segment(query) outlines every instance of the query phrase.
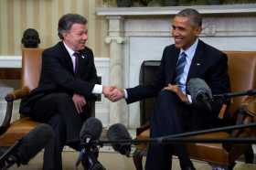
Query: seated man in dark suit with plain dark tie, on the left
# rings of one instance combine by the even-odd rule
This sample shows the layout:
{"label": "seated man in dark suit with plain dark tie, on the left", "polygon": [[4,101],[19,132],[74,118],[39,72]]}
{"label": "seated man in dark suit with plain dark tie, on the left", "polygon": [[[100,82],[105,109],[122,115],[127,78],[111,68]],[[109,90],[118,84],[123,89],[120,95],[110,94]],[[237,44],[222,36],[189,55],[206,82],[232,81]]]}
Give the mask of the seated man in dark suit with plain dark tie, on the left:
{"label": "seated man in dark suit with plain dark tie, on the left", "polygon": [[44,154],[44,170],[61,170],[65,144],[79,150],[82,123],[90,116],[87,103],[93,94],[107,96],[110,87],[98,83],[93,53],[85,47],[87,19],[67,14],[59,19],[61,41],[42,54],[42,70],[37,89],[21,102],[20,112],[38,122],[48,122],[55,137]]}

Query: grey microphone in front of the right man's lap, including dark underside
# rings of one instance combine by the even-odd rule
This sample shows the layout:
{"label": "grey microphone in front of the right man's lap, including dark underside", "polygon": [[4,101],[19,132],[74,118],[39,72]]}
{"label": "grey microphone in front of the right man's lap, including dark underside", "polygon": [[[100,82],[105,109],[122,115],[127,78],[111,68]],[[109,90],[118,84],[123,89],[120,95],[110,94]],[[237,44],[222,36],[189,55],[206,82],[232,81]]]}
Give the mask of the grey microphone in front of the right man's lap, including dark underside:
{"label": "grey microphone in front of the right man's lap, including dark underside", "polygon": [[193,78],[187,83],[187,90],[191,95],[192,102],[199,106],[206,106],[208,111],[212,111],[210,101],[212,100],[212,92],[205,80]]}

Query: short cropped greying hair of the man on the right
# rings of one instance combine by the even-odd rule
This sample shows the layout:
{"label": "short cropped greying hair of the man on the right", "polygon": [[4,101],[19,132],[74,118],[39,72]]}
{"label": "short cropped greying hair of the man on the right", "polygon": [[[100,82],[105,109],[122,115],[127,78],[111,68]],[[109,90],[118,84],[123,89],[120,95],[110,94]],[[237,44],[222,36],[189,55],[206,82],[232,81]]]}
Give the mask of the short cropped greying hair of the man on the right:
{"label": "short cropped greying hair of the man on the right", "polygon": [[176,14],[176,16],[186,16],[190,18],[192,25],[197,27],[202,27],[202,16],[201,14],[193,8],[186,8]]}

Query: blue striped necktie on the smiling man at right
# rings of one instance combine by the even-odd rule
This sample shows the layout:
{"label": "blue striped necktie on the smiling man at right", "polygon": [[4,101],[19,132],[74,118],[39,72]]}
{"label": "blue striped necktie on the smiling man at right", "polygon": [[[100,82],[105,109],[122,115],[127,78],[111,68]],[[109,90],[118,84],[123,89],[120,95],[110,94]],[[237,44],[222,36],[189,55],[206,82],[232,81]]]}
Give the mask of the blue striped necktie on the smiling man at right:
{"label": "blue striped necktie on the smiling man at right", "polygon": [[187,58],[187,54],[185,52],[182,52],[180,54],[180,58],[177,60],[176,79],[175,79],[175,82],[177,85],[183,85],[183,84],[181,84],[180,80],[182,78],[182,73],[184,72],[184,68],[186,65],[186,58]]}

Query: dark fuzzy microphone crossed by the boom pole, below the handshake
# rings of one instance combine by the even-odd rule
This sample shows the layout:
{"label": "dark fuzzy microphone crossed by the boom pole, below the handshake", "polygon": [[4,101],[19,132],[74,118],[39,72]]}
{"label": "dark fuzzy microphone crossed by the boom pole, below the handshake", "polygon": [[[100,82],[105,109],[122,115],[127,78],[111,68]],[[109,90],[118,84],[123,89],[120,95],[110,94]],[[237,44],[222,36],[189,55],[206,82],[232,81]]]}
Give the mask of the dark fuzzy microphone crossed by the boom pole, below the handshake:
{"label": "dark fuzzy microphone crossed by the boom pole, below the handshake", "polygon": [[[130,133],[128,133],[127,129],[122,123],[112,124],[107,132],[107,137],[110,141],[132,141]],[[112,143],[112,148],[116,152],[129,157],[131,152],[131,143]]]}

